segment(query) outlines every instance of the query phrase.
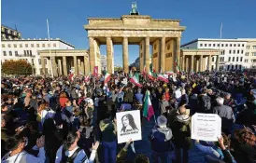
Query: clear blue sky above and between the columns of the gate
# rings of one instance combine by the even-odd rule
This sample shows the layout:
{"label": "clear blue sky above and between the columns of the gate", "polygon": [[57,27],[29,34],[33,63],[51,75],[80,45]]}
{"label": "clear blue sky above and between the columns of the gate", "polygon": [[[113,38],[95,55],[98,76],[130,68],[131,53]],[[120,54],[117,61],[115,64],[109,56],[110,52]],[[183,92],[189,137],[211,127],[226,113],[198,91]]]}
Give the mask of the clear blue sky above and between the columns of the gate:
{"label": "clear blue sky above and between the columns of the gate", "polygon": [[[3,25],[21,31],[23,38],[61,38],[75,48],[89,48],[83,25],[87,18],[121,18],[129,15],[133,0],[2,0]],[[181,44],[196,38],[256,38],[256,0],[137,0],[141,15],[181,20],[186,26]],[[115,65],[122,65],[121,46],[114,46]],[[101,53],[106,54],[106,46]],[[129,62],[138,46],[129,46]]]}

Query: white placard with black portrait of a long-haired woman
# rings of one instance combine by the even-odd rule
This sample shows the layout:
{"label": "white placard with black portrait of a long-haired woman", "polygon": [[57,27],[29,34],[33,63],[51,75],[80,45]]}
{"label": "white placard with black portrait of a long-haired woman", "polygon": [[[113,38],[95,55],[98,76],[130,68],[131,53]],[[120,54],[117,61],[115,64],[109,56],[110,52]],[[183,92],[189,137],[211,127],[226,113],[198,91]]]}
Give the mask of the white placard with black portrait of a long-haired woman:
{"label": "white placard with black portrait of a long-haired woman", "polygon": [[118,143],[141,140],[140,111],[117,113]]}

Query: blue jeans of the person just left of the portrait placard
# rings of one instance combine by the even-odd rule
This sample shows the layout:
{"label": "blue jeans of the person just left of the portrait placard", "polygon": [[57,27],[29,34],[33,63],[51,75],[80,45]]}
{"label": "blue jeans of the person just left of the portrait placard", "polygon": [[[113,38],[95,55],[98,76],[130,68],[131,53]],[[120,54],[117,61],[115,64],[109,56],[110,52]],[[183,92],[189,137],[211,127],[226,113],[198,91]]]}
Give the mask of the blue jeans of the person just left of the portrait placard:
{"label": "blue jeans of the person just left of the portrait placard", "polygon": [[117,156],[117,142],[102,142],[103,146],[103,162],[104,163],[115,163]]}

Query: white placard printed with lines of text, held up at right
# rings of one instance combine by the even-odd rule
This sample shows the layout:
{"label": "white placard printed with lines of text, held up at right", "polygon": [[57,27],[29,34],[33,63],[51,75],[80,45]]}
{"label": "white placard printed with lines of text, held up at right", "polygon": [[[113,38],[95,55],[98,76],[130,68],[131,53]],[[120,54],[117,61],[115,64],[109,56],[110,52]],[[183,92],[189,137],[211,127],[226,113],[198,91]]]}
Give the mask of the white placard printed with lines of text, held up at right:
{"label": "white placard printed with lines of text, held up at right", "polygon": [[215,114],[192,115],[192,139],[217,142],[221,135],[221,118]]}

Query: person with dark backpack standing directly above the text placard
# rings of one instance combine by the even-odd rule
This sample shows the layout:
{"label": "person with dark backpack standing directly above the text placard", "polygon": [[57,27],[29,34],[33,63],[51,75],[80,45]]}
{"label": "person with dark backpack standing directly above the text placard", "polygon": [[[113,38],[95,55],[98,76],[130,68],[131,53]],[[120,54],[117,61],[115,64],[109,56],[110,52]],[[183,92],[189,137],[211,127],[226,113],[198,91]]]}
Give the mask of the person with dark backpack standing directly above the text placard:
{"label": "person with dark backpack standing directly above the text placard", "polygon": [[198,96],[197,113],[212,113],[211,98],[207,95],[207,89],[203,88],[202,93]]}

